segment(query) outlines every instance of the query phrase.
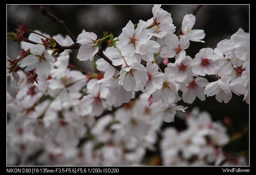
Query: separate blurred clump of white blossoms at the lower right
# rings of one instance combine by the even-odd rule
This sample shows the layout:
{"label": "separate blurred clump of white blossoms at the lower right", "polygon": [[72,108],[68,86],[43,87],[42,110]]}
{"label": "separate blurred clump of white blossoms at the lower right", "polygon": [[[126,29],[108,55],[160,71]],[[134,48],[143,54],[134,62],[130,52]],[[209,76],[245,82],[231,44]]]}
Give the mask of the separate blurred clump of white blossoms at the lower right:
{"label": "separate blurred clump of white blossoms at the lower right", "polygon": [[[167,127],[160,143],[163,165],[165,166],[235,166],[232,158],[225,156],[223,146],[229,142],[227,129],[220,121],[212,121],[211,115],[193,108],[191,113],[181,115],[187,128],[177,131]],[[238,162],[237,162],[238,163]],[[245,166],[244,157],[239,165]]]}

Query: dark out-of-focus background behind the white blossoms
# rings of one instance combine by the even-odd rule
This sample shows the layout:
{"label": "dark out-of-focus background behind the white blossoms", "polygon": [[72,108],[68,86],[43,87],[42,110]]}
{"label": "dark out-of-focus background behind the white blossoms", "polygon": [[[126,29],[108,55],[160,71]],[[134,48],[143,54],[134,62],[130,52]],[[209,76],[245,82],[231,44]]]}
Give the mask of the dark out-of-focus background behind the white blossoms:
{"label": "dark out-of-focus background behind the white blossoms", "polygon": [[[43,5],[50,13],[64,20],[70,32],[77,37],[83,29],[87,32],[94,32],[98,38],[102,38],[103,31],[113,33],[118,37],[122,28],[131,20],[134,24],[140,19],[146,21],[153,14],[153,5]],[[194,11],[197,5],[162,5],[161,8],[172,14],[173,24],[180,28],[183,16]],[[66,35],[65,31],[57,23],[52,22],[39,12],[37,5],[7,5],[7,32],[15,30],[17,24],[24,24],[28,29],[38,29],[41,32],[50,34]],[[195,57],[201,48],[214,49],[217,43],[224,39],[230,39],[239,28],[249,32],[249,5],[204,5],[196,15],[196,23],[193,29],[204,29],[205,43],[191,42],[186,54]],[[20,46],[17,42],[7,42],[7,55],[11,59],[17,57]],[[90,61],[78,61],[76,55],[78,50],[71,53],[71,63],[83,69],[93,71]],[[78,64],[79,62],[79,64]],[[209,82],[215,81],[215,76],[207,77]],[[8,86],[7,86],[8,88]],[[198,98],[193,104],[183,103],[179,105],[198,106],[201,111],[206,110],[213,120],[230,120],[228,133],[231,135],[230,143],[224,148],[229,152],[245,155],[249,153],[249,105],[243,102],[243,95],[233,94],[229,103],[219,103],[215,96],[208,97],[204,102]],[[177,129],[184,129],[183,120],[176,117],[174,123],[165,123],[163,128],[175,126]],[[157,143],[158,144],[158,143]],[[148,155],[151,156],[151,152]],[[156,154],[156,153],[154,153]]]}

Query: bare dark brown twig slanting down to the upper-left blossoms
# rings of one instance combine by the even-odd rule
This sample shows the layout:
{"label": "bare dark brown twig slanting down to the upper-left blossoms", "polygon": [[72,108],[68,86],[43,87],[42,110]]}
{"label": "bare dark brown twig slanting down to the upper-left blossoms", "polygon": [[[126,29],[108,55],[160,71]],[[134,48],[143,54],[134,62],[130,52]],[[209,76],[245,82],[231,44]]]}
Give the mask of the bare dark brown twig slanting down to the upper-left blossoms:
{"label": "bare dark brown twig slanting down to the upper-left blossoms", "polygon": [[49,17],[53,22],[61,25],[64,28],[64,30],[67,32],[67,34],[70,36],[70,38],[73,40],[73,42],[76,43],[76,41],[77,41],[76,38],[69,31],[69,29],[67,28],[67,26],[63,20],[59,20],[58,17],[54,16],[53,14],[50,14],[49,11],[47,11],[47,9],[45,9],[41,5],[39,5],[39,9],[40,9],[41,14],[44,14],[46,17]]}

